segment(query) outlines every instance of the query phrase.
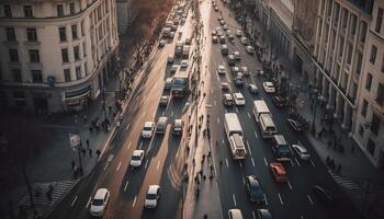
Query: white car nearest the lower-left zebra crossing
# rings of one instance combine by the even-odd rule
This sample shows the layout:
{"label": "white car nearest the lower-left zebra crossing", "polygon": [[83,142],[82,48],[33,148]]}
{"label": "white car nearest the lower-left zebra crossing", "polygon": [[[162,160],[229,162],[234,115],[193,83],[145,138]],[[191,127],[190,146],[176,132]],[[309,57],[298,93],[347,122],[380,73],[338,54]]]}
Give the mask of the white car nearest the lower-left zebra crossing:
{"label": "white car nearest the lower-left zebra crossing", "polygon": [[110,191],[99,188],[91,201],[89,214],[93,217],[102,217],[110,200]]}

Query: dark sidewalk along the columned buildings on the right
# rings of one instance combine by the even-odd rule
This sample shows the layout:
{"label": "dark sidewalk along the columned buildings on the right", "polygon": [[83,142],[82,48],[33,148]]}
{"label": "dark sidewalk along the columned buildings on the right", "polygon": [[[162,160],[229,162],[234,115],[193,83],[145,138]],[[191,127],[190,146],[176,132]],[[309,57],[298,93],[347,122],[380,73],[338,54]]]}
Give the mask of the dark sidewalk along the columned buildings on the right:
{"label": "dark sidewalk along the columned buildings on the right", "polygon": [[[257,31],[263,33],[259,22],[255,21],[255,23]],[[268,59],[270,57],[268,53],[270,51],[269,48],[271,48],[271,42],[266,41],[262,43],[263,45],[267,45],[267,54],[264,54],[264,58]],[[290,83],[301,85],[302,88],[308,87],[308,84],[303,83],[301,76],[298,76],[291,66],[290,60],[280,56],[278,57],[276,62],[278,65],[283,66],[284,71],[289,74]],[[310,108],[308,92],[300,92],[297,100],[304,101],[304,107],[298,111],[300,114],[312,123],[313,111]],[[326,125],[320,122],[324,113],[325,108],[321,108],[318,104],[315,116],[315,129],[317,132]],[[316,137],[314,137],[309,131],[306,131],[305,135],[324,163],[326,163],[326,158],[329,157],[335,160],[336,164],[341,164],[342,169],[339,173],[329,170],[329,174],[353,200],[354,205],[362,211],[363,216],[372,219],[384,218],[384,209],[382,208],[384,206],[383,170],[377,170],[370,163],[360,147],[339,125],[337,125],[337,123],[334,123],[332,129],[336,130],[336,136],[340,138],[340,143],[345,147],[343,153],[328,148],[328,141],[330,140],[329,136],[318,138],[317,134]]]}

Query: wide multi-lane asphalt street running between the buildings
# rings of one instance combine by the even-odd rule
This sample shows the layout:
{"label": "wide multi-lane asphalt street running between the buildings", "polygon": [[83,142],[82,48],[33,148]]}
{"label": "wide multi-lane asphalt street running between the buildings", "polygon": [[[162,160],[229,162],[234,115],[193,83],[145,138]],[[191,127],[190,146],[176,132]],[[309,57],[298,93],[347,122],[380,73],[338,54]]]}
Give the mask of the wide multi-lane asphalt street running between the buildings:
{"label": "wide multi-lane asphalt street running between the buildings", "polygon": [[[222,1],[216,3],[231,33],[241,30],[241,26],[234,19],[234,13],[229,12]],[[256,76],[257,70],[262,69],[261,64],[256,56],[247,54],[246,47],[241,45],[240,38],[236,36],[234,43],[229,43],[228,37],[226,37],[228,51],[229,54],[236,50],[239,51],[241,61],[237,61],[236,66],[246,66],[251,73],[249,77],[245,77],[246,84],[242,89],[234,84],[234,77],[230,73],[230,67],[227,65],[227,58],[221,53],[221,44],[211,43],[212,31],[221,26],[217,20],[221,13],[215,12],[212,2],[207,0],[201,2],[200,10],[203,21],[203,70],[201,80],[204,81],[202,93],[206,94],[204,99],[201,99],[201,104],[210,106],[203,113],[205,113],[205,117],[206,113],[210,114],[211,139],[206,140],[211,142],[214,181],[218,185],[218,194],[213,193],[213,195],[219,197],[221,206],[221,208],[212,210],[221,210],[223,218],[228,218],[228,210],[231,208],[241,209],[245,218],[257,218],[257,209],[259,208],[269,209],[274,219],[361,218],[355,207],[330,177],[328,169],[310,147],[306,136],[294,132],[290,128],[286,123],[287,110],[278,108],[272,102],[272,96],[263,91],[263,78]],[[142,81],[138,90],[127,106],[121,127],[111,143],[102,152],[94,170],[67,195],[49,218],[89,218],[90,201],[98,188],[108,188],[111,192],[110,203],[103,218],[183,218],[184,192],[182,178],[184,163],[191,166],[191,154],[195,157],[202,154],[188,153],[185,149],[189,143],[187,131],[183,131],[182,137],[176,137],[171,132],[171,125],[168,125],[163,135],[155,134],[149,139],[142,138],[140,132],[145,122],[157,123],[160,116],[167,116],[170,123],[177,118],[182,118],[185,123],[189,120],[190,111],[185,107],[185,103],[189,101],[188,97],[182,100],[171,97],[167,107],[162,108],[159,107],[158,103],[161,95],[169,94],[169,91],[163,91],[166,79],[171,77],[171,65],[167,65],[168,55],[173,55],[176,42],[184,41],[192,35],[192,14],[193,12],[190,10],[185,24],[178,27],[176,33],[182,30],[180,38],[176,34],[173,39],[168,39],[165,47],[156,47],[153,50],[139,72]],[[196,47],[195,43],[192,43],[191,47],[193,53]],[[189,56],[187,71],[191,70],[192,59],[193,54]],[[174,61],[180,64],[181,59]],[[217,73],[218,65],[226,67],[225,74]],[[222,103],[222,82],[229,83],[231,93],[241,92],[246,105],[224,106]],[[250,83],[259,88],[258,95],[248,91],[247,84]],[[312,157],[309,161],[304,162],[295,154],[291,162],[284,163],[289,178],[286,184],[275,183],[270,173],[269,163],[274,161],[275,157],[272,151],[272,143],[261,137],[255,122],[252,114],[253,100],[264,100],[271,110],[278,131],[286,138],[290,145],[302,142]],[[228,150],[228,141],[223,125],[225,113],[236,113],[239,117],[245,132],[247,150],[245,161],[231,159],[233,155]],[[202,135],[201,131],[200,135]],[[199,142],[199,147],[208,147],[201,141]],[[140,168],[132,169],[129,161],[133,151],[136,149],[145,151],[145,159]],[[223,162],[222,166],[219,161]],[[267,200],[266,205],[258,206],[249,201],[245,191],[245,176],[247,175],[257,175],[259,178]],[[193,183],[191,180],[193,176],[190,175],[190,183]],[[154,184],[161,187],[161,198],[155,209],[145,209],[146,193],[149,185]],[[315,184],[328,187],[337,197],[338,205],[334,206],[332,209],[321,205],[314,197],[310,188]],[[194,193],[193,186],[190,187],[192,189],[188,189],[188,193]],[[193,201],[204,201],[203,198],[207,197],[195,198]],[[194,203],[189,203],[189,205],[194,205]],[[210,212],[206,214],[211,218]]]}

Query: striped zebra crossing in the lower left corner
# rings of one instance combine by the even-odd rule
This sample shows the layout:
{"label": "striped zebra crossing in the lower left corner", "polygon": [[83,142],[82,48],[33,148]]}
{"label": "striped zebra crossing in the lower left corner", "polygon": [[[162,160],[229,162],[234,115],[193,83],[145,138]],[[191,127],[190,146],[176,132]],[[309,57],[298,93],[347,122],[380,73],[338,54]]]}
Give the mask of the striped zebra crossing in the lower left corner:
{"label": "striped zebra crossing in the lower left corner", "polygon": [[[33,200],[38,216],[44,216],[46,212],[49,212],[54,205],[61,200],[61,198],[76,185],[77,182],[78,181],[76,180],[33,184]],[[49,185],[53,186],[50,196],[47,195]],[[27,208],[30,204],[31,199],[29,193],[25,193],[18,199],[18,206],[20,208]]]}

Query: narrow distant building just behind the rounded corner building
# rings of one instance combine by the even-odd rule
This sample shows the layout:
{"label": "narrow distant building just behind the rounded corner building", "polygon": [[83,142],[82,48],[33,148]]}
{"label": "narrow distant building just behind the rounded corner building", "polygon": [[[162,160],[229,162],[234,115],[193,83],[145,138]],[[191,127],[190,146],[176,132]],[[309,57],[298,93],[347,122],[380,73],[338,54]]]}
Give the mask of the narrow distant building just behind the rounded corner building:
{"label": "narrow distant building just behind the rounded corner building", "polygon": [[135,0],[116,0],[117,7],[117,31],[124,34],[133,24],[139,13],[139,7]]}

